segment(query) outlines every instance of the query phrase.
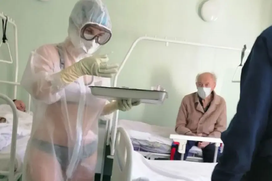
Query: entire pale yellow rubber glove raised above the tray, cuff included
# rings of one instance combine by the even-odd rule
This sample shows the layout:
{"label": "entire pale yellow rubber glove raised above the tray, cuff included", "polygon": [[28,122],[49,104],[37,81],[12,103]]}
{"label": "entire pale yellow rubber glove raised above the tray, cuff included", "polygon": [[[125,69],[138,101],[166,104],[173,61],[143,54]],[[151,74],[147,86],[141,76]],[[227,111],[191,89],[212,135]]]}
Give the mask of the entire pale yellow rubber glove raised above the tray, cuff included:
{"label": "entire pale yellow rubber glove raised above the tray, cuff included", "polygon": [[109,64],[107,55],[83,58],[79,62],[60,72],[60,79],[65,83],[74,82],[83,75],[111,78],[117,73],[117,64]]}

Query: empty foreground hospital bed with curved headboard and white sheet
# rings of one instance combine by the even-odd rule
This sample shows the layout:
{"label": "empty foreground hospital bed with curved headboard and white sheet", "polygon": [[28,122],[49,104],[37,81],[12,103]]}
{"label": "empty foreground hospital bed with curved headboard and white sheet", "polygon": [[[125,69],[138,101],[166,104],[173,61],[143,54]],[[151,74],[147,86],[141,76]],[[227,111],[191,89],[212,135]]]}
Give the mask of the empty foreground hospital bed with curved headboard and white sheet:
{"label": "empty foreground hospital bed with curved headboard and white sheet", "polygon": [[[171,138],[180,143],[181,153],[185,151],[185,139],[208,141],[216,146],[222,143],[216,138],[184,135],[171,135]],[[210,181],[215,165],[183,160],[148,160],[134,151],[129,134],[123,127],[118,127],[111,181]]]}

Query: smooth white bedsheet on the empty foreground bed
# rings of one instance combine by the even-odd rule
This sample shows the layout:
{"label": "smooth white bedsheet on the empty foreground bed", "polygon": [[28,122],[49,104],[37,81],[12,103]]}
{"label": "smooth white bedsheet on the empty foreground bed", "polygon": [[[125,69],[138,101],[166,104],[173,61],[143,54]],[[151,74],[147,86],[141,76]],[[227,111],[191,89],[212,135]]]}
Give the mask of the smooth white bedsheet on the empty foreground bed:
{"label": "smooth white bedsheet on the empty foreground bed", "polygon": [[133,181],[211,181],[217,163],[148,160],[133,152]]}

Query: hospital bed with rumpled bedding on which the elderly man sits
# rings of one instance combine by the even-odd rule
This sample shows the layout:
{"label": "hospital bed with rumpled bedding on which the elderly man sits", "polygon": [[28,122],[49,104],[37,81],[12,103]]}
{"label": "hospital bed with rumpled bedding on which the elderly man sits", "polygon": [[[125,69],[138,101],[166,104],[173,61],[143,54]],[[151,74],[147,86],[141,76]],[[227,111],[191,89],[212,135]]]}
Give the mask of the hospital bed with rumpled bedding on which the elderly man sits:
{"label": "hospital bed with rumpled bedding on which the elderly man sits", "polygon": [[[102,88],[103,89],[103,88]],[[118,114],[118,111],[115,112]],[[114,144],[117,127],[123,127],[130,135],[130,139],[135,151],[138,151],[148,159],[169,159],[171,155],[172,140],[170,134],[174,134],[174,127],[161,127],[147,123],[125,120],[118,120],[118,115],[109,118],[107,145],[110,145],[113,158]],[[110,130],[110,131],[109,131]],[[196,146],[189,151],[187,160],[202,161],[202,150]],[[101,173],[103,173],[101,171]]]}

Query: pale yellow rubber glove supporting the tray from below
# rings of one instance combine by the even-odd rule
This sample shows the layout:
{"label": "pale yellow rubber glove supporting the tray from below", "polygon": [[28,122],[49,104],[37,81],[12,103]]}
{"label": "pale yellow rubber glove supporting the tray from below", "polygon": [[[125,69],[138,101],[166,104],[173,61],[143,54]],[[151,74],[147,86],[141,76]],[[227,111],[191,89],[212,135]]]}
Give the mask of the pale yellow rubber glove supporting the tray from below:
{"label": "pale yellow rubber glove supporting the tray from below", "polygon": [[113,101],[105,105],[102,115],[109,115],[116,110],[129,111],[132,107],[138,106],[140,104],[141,101],[132,101],[131,99],[120,99],[117,101]]}

